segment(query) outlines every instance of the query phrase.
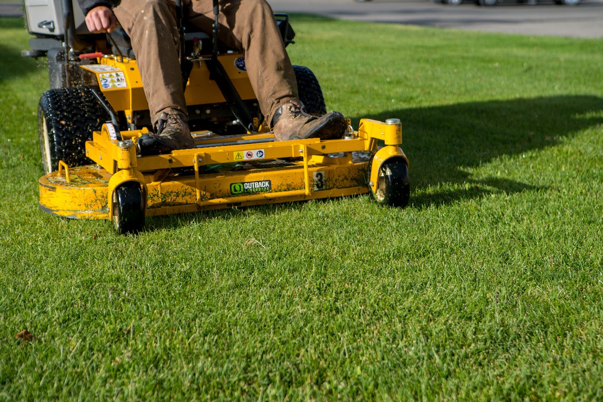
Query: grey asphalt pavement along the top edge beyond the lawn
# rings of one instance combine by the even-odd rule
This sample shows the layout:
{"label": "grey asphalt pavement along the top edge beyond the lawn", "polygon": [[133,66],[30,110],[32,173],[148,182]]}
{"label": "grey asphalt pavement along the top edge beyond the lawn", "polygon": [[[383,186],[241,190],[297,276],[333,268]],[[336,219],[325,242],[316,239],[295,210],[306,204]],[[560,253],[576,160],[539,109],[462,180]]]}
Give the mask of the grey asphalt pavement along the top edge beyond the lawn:
{"label": "grey asphalt pavement along the top edge beyond the lawn", "polygon": [[[311,13],[338,19],[422,25],[528,35],[603,37],[603,0],[577,6],[541,0],[536,5],[511,0],[494,7],[473,2],[447,5],[428,0],[268,0],[274,11]],[[21,2],[0,1],[0,16],[21,16]]]}

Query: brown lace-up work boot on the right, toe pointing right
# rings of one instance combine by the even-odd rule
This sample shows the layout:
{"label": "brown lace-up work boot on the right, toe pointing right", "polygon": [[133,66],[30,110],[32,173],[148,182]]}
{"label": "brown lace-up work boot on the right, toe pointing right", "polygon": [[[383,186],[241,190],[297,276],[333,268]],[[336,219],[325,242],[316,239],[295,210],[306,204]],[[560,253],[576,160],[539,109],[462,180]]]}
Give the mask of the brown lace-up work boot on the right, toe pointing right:
{"label": "brown lace-up work boot on the right, toe pointing right", "polygon": [[320,137],[321,140],[341,138],[347,128],[346,118],[332,111],[320,118],[308,115],[299,99],[291,99],[274,113],[272,119],[275,141]]}

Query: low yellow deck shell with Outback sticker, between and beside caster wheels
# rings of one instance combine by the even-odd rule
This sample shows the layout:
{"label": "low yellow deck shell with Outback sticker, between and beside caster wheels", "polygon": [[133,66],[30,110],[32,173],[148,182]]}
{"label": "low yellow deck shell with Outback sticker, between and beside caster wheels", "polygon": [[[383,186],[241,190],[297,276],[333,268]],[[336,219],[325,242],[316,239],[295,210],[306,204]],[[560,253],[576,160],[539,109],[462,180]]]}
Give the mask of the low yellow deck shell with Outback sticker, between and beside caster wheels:
{"label": "low yellow deck shell with Outback sticker, between and beside caster wheels", "polygon": [[[39,179],[40,209],[66,218],[109,219],[109,174],[98,165],[69,168]],[[173,172],[144,175],[145,216],[236,206],[286,203],[367,193],[367,162],[308,166],[309,191],[301,163],[244,171]]]}

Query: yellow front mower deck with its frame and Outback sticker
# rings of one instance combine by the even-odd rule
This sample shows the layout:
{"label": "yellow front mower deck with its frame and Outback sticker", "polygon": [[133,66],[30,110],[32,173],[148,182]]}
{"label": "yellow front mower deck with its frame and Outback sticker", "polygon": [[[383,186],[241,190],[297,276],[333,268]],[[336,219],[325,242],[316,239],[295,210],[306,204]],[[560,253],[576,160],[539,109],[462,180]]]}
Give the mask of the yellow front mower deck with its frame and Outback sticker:
{"label": "yellow front mower deck with its frame and Outback sticker", "polygon": [[[122,208],[140,209],[144,219],[330,198],[378,192],[378,170],[385,160],[398,158],[408,166],[396,119],[364,119],[358,131],[327,141],[274,142],[270,133],[225,137],[201,131],[193,133],[196,148],[140,157],[135,142],[145,132],[124,131],[118,139],[110,124],[103,125],[86,143],[86,155],[96,165],[68,168],[60,163],[58,171],[41,177],[40,208],[67,218],[116,221],[124,219]],[[385,143],[379,151],[377,140]],[[122,202],[116,189],[132,183],[142,199],[127,196],[130,201]]]}

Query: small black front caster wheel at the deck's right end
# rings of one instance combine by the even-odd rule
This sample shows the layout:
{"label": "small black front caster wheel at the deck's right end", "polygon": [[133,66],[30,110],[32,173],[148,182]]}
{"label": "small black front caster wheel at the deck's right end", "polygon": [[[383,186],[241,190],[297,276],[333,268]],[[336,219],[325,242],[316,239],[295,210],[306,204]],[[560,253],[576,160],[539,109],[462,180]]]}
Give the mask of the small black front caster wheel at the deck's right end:
{"label": "small black front caster wheel at the deck's right end", "polygon": [[[370,171],[369,171],[370,172]],[[408,166],[402,158],[386,160],[379,168],[377,190],[373,193],[379,204],[406,207],[411,195]]]}

